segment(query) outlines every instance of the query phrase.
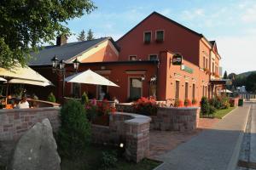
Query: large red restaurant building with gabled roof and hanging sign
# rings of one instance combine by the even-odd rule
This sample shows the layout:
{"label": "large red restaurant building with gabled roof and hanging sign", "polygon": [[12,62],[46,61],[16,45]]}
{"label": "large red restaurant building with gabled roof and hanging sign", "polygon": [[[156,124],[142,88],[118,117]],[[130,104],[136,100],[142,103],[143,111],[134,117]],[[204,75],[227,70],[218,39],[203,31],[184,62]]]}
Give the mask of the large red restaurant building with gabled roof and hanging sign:
{"label": "large red restaurant building with gabled roof and hanging sign", "polygon": [[[61,38],[61,39],[60,39]],[[65,85],[65,96],[85,91],[98,98],[101,90],[117,97],[119,101],[154,95],[158,100],[196,99],[211,97],[218,93],[218,54],[215,41],[156,12],[148,15],[137,26],[128,31],[117,42],[112,38],[100,38],[87,42],[65,43],[66,37],[59,37],[54,47],[44,48],[33,54],[38,60],[32,68],[55,83],[58,98],[62,96],[61,77],[51,72],[50,59],[56,55],[67,63],[66,76],[73,74],[72,62],[79,59],[79,71],[90,68],[120,88],[92,85]],[[172,65],[174,55],[182,55],[182,65]],[[45,97],[45,96],[42,96]]]}

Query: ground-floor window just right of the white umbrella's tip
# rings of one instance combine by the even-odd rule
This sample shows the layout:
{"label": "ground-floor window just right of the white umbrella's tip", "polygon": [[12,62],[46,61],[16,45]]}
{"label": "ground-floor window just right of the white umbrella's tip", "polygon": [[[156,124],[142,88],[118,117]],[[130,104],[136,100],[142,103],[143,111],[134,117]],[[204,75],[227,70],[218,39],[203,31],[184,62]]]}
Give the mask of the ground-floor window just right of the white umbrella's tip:
{"label": "ground-floor window just right of the white umbrella's tip", "polygon": [[130,98],[138,99],[143,94],[143,82],[141,78],[130,78]]}

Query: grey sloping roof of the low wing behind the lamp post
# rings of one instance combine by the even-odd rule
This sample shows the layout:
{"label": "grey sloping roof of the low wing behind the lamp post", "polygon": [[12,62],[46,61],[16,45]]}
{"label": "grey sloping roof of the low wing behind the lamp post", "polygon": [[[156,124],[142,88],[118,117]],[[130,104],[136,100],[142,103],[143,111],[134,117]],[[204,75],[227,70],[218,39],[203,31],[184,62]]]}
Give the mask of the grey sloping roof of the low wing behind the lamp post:
{"label": "grey sloping roof of the low wing behind the lamp post", "polygon": [[61,46],[47,46],[39,50],[38,53],[32,53],[32,60],[29,65],[51,65],[51,59],[56,55],[58,59],[72,59],[73,57],[83,54],[84,52],[96,47],[105,41],[111,41],[113,46],[119,50],[116,43],[111,37],[101,37],[98,39],[84,42],[70,42]]}

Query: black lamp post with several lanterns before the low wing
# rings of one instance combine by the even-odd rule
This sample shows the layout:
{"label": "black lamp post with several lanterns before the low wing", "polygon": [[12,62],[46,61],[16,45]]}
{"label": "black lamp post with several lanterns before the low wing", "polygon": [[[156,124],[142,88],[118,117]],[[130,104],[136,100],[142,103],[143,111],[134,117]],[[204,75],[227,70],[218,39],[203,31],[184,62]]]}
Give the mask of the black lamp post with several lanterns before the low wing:
{"label": "black lamp post with several lanterns before the low wing", "polygon": [[[56,57],[56,55],[51,59],[52,62],[52,71],[56,73],[59,77],[62,77],[62,99],[64,102],[64,94],[65,94],[65,76],[66,76],[66,62],[64,59],[61,61]],[[77,72],[79,70],[79,59],[73,60],[73,69]]]}

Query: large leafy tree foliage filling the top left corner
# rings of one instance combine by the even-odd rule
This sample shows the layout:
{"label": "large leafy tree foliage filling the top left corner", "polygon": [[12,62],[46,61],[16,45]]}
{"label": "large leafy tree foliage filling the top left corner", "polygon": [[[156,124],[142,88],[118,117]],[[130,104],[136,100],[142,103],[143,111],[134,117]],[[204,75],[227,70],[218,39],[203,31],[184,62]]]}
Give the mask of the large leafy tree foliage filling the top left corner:
{"label": "large leafy tree foliage filling the top left corner", "polygon": [[0,1],[0,66],[25,66],[32,51],[57,35],[69,35],[67,20],[90,14],[91,0]]}

